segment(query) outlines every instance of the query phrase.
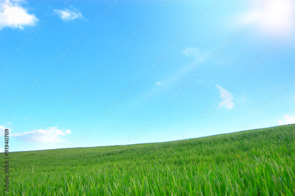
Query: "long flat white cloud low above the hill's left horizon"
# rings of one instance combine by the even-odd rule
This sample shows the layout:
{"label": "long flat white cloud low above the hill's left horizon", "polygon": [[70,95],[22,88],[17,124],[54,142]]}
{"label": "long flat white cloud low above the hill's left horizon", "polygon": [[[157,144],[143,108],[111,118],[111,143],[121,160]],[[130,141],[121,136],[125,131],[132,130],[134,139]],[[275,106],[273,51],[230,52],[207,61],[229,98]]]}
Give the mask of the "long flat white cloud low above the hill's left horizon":
{"label": "long flat white cloud low above the hill's left horizon", "polygon": [[18,138],[20,141],[26,141],[30,136],[31,141],[38,143],[45,142],[67,142],[66,140],[60,139],[61,136],[71,134],[71,130],[66,130],[65,132],[57,129],[56,127],[49,127],[47,129],[37,129],[33,131],[24,132],[21,134],[11,134],[12,137]]}

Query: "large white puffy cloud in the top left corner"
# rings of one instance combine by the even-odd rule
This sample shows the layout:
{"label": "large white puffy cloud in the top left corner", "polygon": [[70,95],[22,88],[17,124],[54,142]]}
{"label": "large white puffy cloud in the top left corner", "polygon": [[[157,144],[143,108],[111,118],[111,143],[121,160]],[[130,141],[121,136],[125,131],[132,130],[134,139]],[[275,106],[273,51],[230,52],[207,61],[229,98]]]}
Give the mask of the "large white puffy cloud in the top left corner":
{"label": "large white puffy cloud in the top left corner", "polygon": [[33,26],[39,20],[34,14],[27,13],[21,5],[24,1],[0,1],[0,30],[4,27],[24,29],[24,26]]}

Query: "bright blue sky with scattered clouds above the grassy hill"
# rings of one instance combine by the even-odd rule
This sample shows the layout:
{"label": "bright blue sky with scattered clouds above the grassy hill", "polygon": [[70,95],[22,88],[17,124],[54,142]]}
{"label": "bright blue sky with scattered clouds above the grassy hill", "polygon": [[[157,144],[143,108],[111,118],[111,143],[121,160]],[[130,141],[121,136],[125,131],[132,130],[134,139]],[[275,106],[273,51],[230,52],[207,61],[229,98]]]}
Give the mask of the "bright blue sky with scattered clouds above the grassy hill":
{"label": "bright blue sky with scattered clouds above the grassy hill", "polygon": [[294,6],[1,0],[1,138],[27,151],[295,123]]}

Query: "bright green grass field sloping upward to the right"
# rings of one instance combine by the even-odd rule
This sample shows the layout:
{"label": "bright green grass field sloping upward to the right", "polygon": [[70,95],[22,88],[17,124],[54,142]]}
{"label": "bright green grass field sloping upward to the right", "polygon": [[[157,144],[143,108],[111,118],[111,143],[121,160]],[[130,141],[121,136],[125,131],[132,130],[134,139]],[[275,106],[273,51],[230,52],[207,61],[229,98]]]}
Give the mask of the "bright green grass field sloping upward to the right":
{"label": "bright green grass field sloping upward to the right", "polygon": [[1,195],[295,195],[294,134],[292,124],[164,143],[13,152],[9,194],[2,186]]}

